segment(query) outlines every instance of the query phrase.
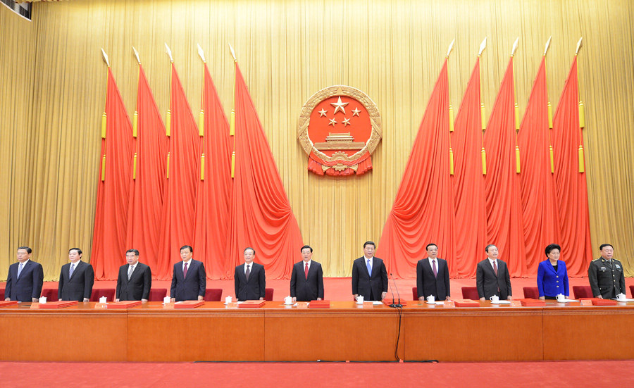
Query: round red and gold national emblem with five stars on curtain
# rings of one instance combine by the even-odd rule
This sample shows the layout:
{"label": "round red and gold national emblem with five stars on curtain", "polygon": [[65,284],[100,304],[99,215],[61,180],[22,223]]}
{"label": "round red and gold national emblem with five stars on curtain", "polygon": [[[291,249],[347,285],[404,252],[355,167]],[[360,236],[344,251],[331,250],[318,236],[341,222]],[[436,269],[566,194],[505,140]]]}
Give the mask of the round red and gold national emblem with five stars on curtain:
{"label": "round red and gold national emblem with five stars on curtain", "polygon": [[299,143],[318,175],[361,175],[372,170],[371,154],[381,140],[376,104],[354,87],[321,89],[299,115]]}

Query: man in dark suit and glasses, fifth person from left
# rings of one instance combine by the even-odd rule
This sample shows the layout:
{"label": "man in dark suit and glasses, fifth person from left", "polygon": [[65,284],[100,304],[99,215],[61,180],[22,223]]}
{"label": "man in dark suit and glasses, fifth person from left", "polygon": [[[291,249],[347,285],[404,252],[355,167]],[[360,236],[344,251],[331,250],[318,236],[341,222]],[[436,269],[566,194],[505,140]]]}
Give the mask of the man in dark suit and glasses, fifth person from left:
{"label": "man in dark suit and glasses, fifth person from left", "polygon": [[264,265],[254,263],[255,249],[244,249],[244,264],[235,268],[235,297],[238,301],[263,301],[266,287]]}

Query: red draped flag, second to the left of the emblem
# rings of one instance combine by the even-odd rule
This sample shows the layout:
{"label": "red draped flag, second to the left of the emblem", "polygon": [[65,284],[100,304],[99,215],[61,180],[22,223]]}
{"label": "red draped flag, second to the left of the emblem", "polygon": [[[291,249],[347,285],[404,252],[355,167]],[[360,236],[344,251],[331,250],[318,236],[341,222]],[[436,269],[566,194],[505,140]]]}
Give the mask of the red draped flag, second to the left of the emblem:
{"label": "red draped flag, second to the left of the emblem", "polygon": [[[207,277],[220,279],[232,268],[227,255],[229,207],[231,199],[231,143],[229,123],[205,64],[205,86],[201,104],[204,136],[201,137],[194,251],[205,263]],[[202,155],[204,154],[204,158]]]}

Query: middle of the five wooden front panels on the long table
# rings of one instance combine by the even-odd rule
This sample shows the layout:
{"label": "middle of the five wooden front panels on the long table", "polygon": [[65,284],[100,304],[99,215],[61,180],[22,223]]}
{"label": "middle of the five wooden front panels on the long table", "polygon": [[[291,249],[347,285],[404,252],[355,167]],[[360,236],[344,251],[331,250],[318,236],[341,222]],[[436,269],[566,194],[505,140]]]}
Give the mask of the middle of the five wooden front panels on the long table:
{"label": "middle of the five wooden front panels on the long table", "polygon": [[[393,308],[332,302],[328,309],[265,310],[266,361],[394,361],[399,315]],[[403,353],[403,336],[399,353]]]}

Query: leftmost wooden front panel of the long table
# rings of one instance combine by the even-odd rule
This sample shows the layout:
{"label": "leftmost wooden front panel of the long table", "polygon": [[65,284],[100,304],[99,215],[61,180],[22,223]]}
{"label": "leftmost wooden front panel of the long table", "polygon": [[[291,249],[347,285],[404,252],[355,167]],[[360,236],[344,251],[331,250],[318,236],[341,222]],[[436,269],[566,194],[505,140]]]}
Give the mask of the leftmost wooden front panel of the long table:
{"label": "leftmost wooden front panel of the long table", "polygon": [[128,315],[94,303],[58,310],[3,308],[3,361],[125,361]]}

